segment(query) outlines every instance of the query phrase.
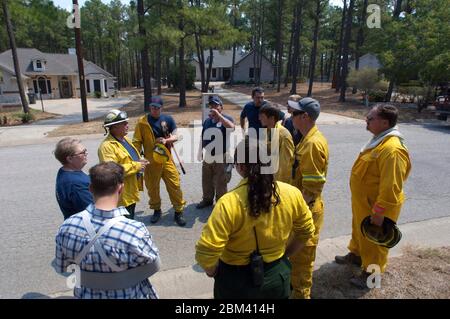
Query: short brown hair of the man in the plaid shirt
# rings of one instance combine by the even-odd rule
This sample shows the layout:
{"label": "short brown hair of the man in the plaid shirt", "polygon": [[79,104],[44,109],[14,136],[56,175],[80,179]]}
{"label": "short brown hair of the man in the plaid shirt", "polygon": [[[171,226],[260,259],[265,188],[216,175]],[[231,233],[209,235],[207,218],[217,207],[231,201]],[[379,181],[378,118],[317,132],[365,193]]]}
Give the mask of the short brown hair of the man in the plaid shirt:
{"label": "short brown hair of the man in the plaid shirt", "polygon": [[123,183],[125,171],[122,165],[115,162],[105,162],[89,169],[91,190],[95,197],[114,194],[117,186]]}

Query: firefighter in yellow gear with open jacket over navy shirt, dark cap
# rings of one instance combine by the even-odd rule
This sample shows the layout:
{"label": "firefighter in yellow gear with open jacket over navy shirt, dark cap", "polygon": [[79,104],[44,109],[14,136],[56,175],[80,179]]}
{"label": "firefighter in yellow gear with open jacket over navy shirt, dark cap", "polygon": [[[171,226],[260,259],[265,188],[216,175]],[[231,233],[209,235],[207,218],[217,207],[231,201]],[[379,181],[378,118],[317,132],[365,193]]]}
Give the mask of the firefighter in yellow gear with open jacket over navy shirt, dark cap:
{"label": "firefighter in yellow gear with open jacket over navy shirt, dark cap", "polygon": [[145,186],[150,197],[149,206],[154,210],[151,218],[156,223],[161,218],[161,197],[159,184],[164,181],[170,201],[175,209],[175,222],[186,225],[183,209],[186,202],[180,187],[180,174],[175,167],[170,147],[177,141],[176,124],[170,115],[161,114],[163,100],[154,96],[150,103],[150,113],[142,116],[136,124],[133,136],[134,146],[150,163],[145,169]]}

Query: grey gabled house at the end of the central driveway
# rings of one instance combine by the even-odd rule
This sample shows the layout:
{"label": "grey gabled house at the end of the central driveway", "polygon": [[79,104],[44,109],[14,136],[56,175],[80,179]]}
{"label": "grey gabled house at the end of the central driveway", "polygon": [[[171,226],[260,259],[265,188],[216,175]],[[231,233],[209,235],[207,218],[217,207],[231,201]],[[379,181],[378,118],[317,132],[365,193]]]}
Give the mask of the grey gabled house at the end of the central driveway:
{"label": "grey gabled house at the end of the central driveway", "polygon": [[[234,81],[251,81],[255,79],[259,67],[255,68],[253,57],[254,51],[247,53],[241,50],[236,50],[235,63],[234,63]],[[205,66],[209,66],[209,50],[205,50]],[[229,81],[231,78],[231,66],[233,62],[233,50],[213,50],[213,61],[211,67],[211,81]],[[200,81],[200,63],[198,58],[194,57],[192,64],[195,66],[195,79]],[[262,72],[261,82],[270,82],[273,80],[275,67],[265,57],[262,56]]]}

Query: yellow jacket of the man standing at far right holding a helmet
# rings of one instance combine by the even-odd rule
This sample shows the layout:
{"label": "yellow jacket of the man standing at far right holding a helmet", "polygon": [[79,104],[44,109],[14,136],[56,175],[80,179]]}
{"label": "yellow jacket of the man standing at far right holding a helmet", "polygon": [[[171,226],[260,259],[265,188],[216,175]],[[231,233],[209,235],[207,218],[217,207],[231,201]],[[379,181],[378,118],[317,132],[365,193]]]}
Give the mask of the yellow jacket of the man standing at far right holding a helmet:
{"label": "yellow jacket of the man standing at far right holding a helmet", "polygon": [[350,177],[354,214],[364,218],[379,213],[397,221],[410,170],[408,150],[397,136],[388,136],[360,153]]}

